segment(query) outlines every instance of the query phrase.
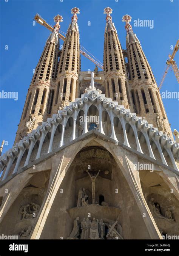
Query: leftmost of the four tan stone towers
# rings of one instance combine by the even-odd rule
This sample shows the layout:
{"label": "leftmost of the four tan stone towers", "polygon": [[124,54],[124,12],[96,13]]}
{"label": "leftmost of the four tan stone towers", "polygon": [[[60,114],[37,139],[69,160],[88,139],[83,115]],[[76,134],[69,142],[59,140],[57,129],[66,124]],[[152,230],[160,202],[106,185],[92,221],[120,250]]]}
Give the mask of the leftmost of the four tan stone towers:
{"label": "leftmost of the four tan stone towers", "polygon": [[59,52],[59,29],[62,16],[54,17],[54,31],[46,41],[28,89],[15,143],[35,129],[51,114]]}

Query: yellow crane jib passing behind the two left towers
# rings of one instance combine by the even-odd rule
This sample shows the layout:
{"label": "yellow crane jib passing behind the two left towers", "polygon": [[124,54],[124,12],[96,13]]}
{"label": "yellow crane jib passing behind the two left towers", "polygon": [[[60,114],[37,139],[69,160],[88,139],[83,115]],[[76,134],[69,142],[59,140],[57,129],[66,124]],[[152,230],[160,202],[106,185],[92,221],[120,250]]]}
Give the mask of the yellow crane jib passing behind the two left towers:
{"label": "yellow crane jib passing behind the two left towers", "polygon": [[[54,28],[49,25],[38,13],[35,15],[34,20],[39,23],[40,25],[48,28],[48,30],[50,30],[51,32],[54,31]],[[64,33],[65,34],[65,33]],[[61,38],[63,41],[65,41],[65,36],[63,36],[62,34],[59,33],[59,38]],[[94,60],[91,56],[93,56],[91,53],[87,53],[88,51],[80,45],[80,53],[85,56],[86,58],[88,58],[88,60],[91,60],[93,63],[95,63],[99,68],[101,68],[103,70],[103,64],[99,61],[99,60]],[[93,56],[94,57],[94,56]],[[95,58],[95,57],[94,57]]]}

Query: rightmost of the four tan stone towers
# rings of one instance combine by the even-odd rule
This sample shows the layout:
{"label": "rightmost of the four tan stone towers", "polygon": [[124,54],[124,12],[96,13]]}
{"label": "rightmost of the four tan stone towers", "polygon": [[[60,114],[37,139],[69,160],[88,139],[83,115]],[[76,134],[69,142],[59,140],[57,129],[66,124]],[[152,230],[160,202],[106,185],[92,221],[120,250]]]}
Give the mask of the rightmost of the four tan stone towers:
{"label": "rightmost of the four tan stone towers", "polygon": [[129,83],[134,112],[138,116],[145,117],[153,126],[166,133],[167,136],[172,137],[159,88],[139,39],[130,25],[131,16],[126,14],[123,16],[122,21],[126,23]]}

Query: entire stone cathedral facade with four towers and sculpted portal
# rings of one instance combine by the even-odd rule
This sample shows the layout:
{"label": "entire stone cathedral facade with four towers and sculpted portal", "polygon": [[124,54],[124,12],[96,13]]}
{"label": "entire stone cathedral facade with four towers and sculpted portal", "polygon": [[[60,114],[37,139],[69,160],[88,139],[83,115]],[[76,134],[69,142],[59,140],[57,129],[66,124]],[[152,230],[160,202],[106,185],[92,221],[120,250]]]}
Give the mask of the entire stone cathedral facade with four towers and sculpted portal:
{"label": "entire stone cathedral facade with four towers and sculpted portal", "polygon": [[0,156],[0,234],[19,239],[179,236],[179,138],[150,64],[107,7],[103,71],[81,71],[78,8],[62,16],[28,89],[14,146]]}

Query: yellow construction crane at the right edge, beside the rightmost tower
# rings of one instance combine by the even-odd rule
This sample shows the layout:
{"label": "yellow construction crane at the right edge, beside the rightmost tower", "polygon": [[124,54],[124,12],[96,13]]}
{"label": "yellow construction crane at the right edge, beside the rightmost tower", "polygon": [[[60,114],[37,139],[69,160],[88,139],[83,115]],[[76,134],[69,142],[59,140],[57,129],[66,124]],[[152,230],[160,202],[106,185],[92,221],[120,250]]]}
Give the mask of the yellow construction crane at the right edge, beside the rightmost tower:
{"label": "yellow construction crane at the right edge, beside the rightmost tower", "polygon": [[165,70],[165,73],[164,73],[164,75],[162,77],[162,80],[161,80],[160,85],[159,85],[159,89],[161,89],[161,87],[162,87],[162,85],[164,83],[165,77],[167,75],[167,72],[168,72],[168,69],[170,68],[170,66],[173,68],[174,74],[175,74],[176,79],[177,79],[177,81],[179,83],[179,70],[178,70],[176,61],[173,60],[174,56],[175,56],[175,54],[176,54],[176,52],[178,50],[178,48],[179,48],[179,40],[177,40],[177,43],[176,43],[176,46],[174,47],[172,55],[170,55],[170,54],[168,55],[169,56],[169,60],[166,61],[167,69]]}

